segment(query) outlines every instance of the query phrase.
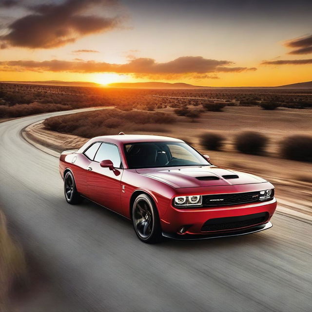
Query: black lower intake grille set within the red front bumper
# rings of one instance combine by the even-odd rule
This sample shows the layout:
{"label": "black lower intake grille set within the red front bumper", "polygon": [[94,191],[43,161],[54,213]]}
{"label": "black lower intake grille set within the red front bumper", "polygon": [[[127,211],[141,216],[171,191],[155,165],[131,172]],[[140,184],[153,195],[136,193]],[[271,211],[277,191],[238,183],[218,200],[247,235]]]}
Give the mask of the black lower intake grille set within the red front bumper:
{"label": "black lower intake grille set within the red front bumper", "polygon": [[212,231],[227,231],[239,228],[245,228],[256,224],[261,224],[269,219],[267,212],[252,214],[252,215],[240,215],[231,216],[226,218],[215,218],[207,220],[201,228],[203,232]]}

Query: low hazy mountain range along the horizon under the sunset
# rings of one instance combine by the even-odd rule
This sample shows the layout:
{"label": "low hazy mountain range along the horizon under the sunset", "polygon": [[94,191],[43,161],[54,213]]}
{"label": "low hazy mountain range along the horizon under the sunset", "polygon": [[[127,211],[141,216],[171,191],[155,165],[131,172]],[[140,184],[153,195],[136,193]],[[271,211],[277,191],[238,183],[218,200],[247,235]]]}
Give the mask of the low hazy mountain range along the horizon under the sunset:
{"label": "low hazy mountain range along the horizon under the sunset", "polygon": [[[54,85],[54,86],[70,86],[70,87],[104,87],[101,84],[95,82],[84,82],[84,81],[60,81],[60,80],[49,80],[49,81],[0,81],[7,83],[22,83],[22,84],[37,84],[37,85]],[[299,82],[287,84],[284,86],[276,87],[207,87],[207,86],[195,86],[189,83],[177,82],[118,82],[110,83],[107,85],[109,88],[133,88],[133,89],[206,89],[206,88],[239,88],[239,89],[257,89],[257,88],[285,88],[285,89],[308,89],[312,88],[312,81]]]}

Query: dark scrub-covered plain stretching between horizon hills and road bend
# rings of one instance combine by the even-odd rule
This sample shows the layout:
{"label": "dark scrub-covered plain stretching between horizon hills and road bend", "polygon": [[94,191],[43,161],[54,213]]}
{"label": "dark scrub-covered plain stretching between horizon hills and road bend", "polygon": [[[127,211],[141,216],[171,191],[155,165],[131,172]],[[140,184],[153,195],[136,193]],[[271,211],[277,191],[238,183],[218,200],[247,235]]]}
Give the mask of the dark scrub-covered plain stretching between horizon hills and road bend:
{"label": "dark scrub-covered plain stretching between horizon hills and road bend", "polygon": [[[290,93],[291,92],[291,93]],[[123,111],[176,108],[178,116],[196,121],[205,111],[228,106],[312,108],[312,91],[284,89],[118,89],[0,83],[0,118],[22,117],[97,106]]]}

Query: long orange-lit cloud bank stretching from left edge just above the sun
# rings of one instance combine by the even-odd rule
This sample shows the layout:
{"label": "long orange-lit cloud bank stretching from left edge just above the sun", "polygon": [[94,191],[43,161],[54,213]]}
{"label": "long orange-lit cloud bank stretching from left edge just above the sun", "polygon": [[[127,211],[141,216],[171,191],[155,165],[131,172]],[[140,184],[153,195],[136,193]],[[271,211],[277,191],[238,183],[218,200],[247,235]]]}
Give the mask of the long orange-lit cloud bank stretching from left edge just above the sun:
{"label": "long orange-lit cloud bank stretching from left edge just above the sun", "polygon": [[[207,74],[215,72],[242,72],[251,70],[247,67],[227,67],[233,62],[228,60],[204,59],[203,57],[180,57],[165,63],[157,63],[155,59],[132,59],[125,64],[111,64],[96,61],[64,61],[64,60],[13,60],[2,61],[0,65],[11,66],[31,71],[103,73],[135,75],[187,75]],[[254,69],[252,69],[254,70]]]}

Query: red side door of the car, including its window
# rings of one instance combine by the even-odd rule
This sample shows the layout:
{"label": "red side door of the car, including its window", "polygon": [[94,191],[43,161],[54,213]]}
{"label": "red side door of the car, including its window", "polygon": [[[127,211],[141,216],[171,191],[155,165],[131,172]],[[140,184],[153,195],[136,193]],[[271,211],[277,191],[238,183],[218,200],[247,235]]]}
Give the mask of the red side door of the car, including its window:
{"label": "red side door of the car, including its window", "polygon": [[[114,170],[100,166],[99,162],[107,159],[113,162]],[[87,170],[89,198],[122,214],[120,196],[123,169],[117,145],[102,142]]]}

